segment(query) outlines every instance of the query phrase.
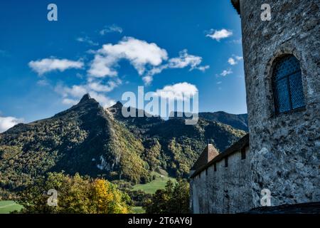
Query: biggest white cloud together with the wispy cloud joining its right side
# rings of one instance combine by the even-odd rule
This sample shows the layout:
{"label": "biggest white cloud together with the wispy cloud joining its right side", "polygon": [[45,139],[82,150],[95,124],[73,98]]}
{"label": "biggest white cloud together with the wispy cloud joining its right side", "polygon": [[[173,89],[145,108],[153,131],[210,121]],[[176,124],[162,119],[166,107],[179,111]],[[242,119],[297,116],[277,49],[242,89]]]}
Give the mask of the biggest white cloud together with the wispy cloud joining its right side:
{"label": "biggest white cloud together with the wispy cloud joining its right side", "polygon": [[155,74],[167,68],[186,68],[190,71],[206,71],[209,66],[201,66],[202,57],[193,56],[184,49],[176,58],[168,58],[164,48],[156,43],[147,43],[133,37],[124,37],[117,44],[107,43],[94,51],[95,58],[87,71],[91,78],[118,76],[119,61],[125,59],[137,70],[146,85],[150,84]]}

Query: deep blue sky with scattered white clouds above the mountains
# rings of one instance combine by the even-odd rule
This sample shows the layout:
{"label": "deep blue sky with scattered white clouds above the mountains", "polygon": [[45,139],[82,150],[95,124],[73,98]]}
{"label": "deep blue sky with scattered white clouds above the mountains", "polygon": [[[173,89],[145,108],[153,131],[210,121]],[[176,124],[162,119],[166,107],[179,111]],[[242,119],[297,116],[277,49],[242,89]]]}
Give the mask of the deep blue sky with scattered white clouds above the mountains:
{"label": "deep blue sky with scattered white clouds above the mountains", "polygon": [[200,111],[247,110],[230,1],[1,1],[0,31],[2,128],[48,118],[84,92],[107,106],[137,86],[196,88]]}

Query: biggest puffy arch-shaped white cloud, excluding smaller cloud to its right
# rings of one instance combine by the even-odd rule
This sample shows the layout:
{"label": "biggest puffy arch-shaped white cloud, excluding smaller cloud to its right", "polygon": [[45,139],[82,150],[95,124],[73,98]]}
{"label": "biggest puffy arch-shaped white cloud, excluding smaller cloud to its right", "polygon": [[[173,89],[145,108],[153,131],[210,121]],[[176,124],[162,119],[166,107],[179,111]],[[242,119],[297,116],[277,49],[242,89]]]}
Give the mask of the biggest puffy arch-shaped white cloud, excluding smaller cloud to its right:
{"label": "biggest puffy arch-shaped white cloud, excluding smaller cloud to its right", "polygon": [[167,58],[166,50],[159,48],[156,43],[124,37],[117,44],[107,43],[102,46],[95,54],[88,73],[97,78],[117,76],[117,63],[121,59],[127,59],[139,75],[142,75],[146,66],[159,66]]}

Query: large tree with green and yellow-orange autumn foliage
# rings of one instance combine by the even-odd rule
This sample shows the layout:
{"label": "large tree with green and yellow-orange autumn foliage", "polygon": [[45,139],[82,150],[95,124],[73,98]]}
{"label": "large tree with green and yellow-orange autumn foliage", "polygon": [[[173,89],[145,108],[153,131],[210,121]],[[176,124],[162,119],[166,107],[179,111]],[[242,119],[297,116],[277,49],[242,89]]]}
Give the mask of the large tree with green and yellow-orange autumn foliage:
{"label": "large tree with green and yellow-orange autumn foliage", "polygon": [[[57,205],[49,205],[48,190],[56,190]],[[50,199],[49,199],[50,200]],[[107,180],[48,173],[21,192],[18,203],[24,213],[124,214],[131,212],[129,196]]]}

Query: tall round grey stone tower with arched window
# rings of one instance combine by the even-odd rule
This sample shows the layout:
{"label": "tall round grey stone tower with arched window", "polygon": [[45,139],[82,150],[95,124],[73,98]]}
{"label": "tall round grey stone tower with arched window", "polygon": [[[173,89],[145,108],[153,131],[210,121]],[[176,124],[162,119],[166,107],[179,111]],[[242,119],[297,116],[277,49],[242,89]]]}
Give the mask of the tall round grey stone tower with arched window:
{"label": "tall round grey stone tower with arched window", "polygon": [[254,207],[262,189],[272,205],[320,201],[320,1],[232,3],[242,21]]}

